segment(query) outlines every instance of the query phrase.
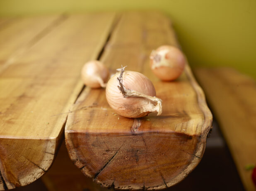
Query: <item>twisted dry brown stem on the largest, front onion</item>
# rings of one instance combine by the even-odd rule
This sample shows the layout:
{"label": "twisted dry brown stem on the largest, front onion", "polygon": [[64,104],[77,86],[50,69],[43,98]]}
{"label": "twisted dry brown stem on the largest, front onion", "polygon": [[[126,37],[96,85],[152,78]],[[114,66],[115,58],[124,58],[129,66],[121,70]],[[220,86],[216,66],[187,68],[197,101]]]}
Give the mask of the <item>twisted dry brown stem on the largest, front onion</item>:
{"label": "twisted dry brown stem on the largest, front onion", "polygon": [[146,94],[142,94],[140,92],[137,92],[135,90],[130,90],[130,89],[126,89],[123,85],[123,72],[124,72],[124,68],[126,68],[126,66],[122,66],[122,68],[117,69],[118,72],[120,72],[119,77],[117,78],[119,85],[117,86],[118,89],[121,91],[121,93],[123,94],[123,97],[144,97],[146,99],[151,100],[154,103],[154,107],[152,108],[153,112],[157,112],[157,116],[162,114],[162,99],[159,99],[157,97],[152,97],[152,96],[148,96]]}

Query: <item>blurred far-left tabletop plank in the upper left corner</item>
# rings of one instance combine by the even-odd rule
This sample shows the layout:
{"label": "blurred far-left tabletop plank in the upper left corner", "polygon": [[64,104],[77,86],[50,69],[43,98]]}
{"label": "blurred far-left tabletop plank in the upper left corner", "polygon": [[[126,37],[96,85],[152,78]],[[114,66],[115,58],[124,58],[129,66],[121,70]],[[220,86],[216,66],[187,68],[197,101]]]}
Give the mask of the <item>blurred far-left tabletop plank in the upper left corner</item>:
{"label": "blurred far-left tabletop plank in the upper left corner", "polygon": [[0,71],[12,64],[19,55],[52,30],[64,15],[16,17],[5,19],[0,25]]}

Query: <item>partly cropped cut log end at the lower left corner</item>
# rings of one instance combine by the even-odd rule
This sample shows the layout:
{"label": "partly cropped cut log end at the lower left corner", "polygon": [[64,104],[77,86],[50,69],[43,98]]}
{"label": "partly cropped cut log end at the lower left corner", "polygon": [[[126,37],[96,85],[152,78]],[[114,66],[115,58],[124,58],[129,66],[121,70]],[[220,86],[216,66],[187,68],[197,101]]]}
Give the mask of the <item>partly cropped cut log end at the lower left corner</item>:
{"label": "partly cropped cut log end at the lower left corner", "polygon": [[51,167],[56,139],[0,138],[0,190],[25,186]]}

